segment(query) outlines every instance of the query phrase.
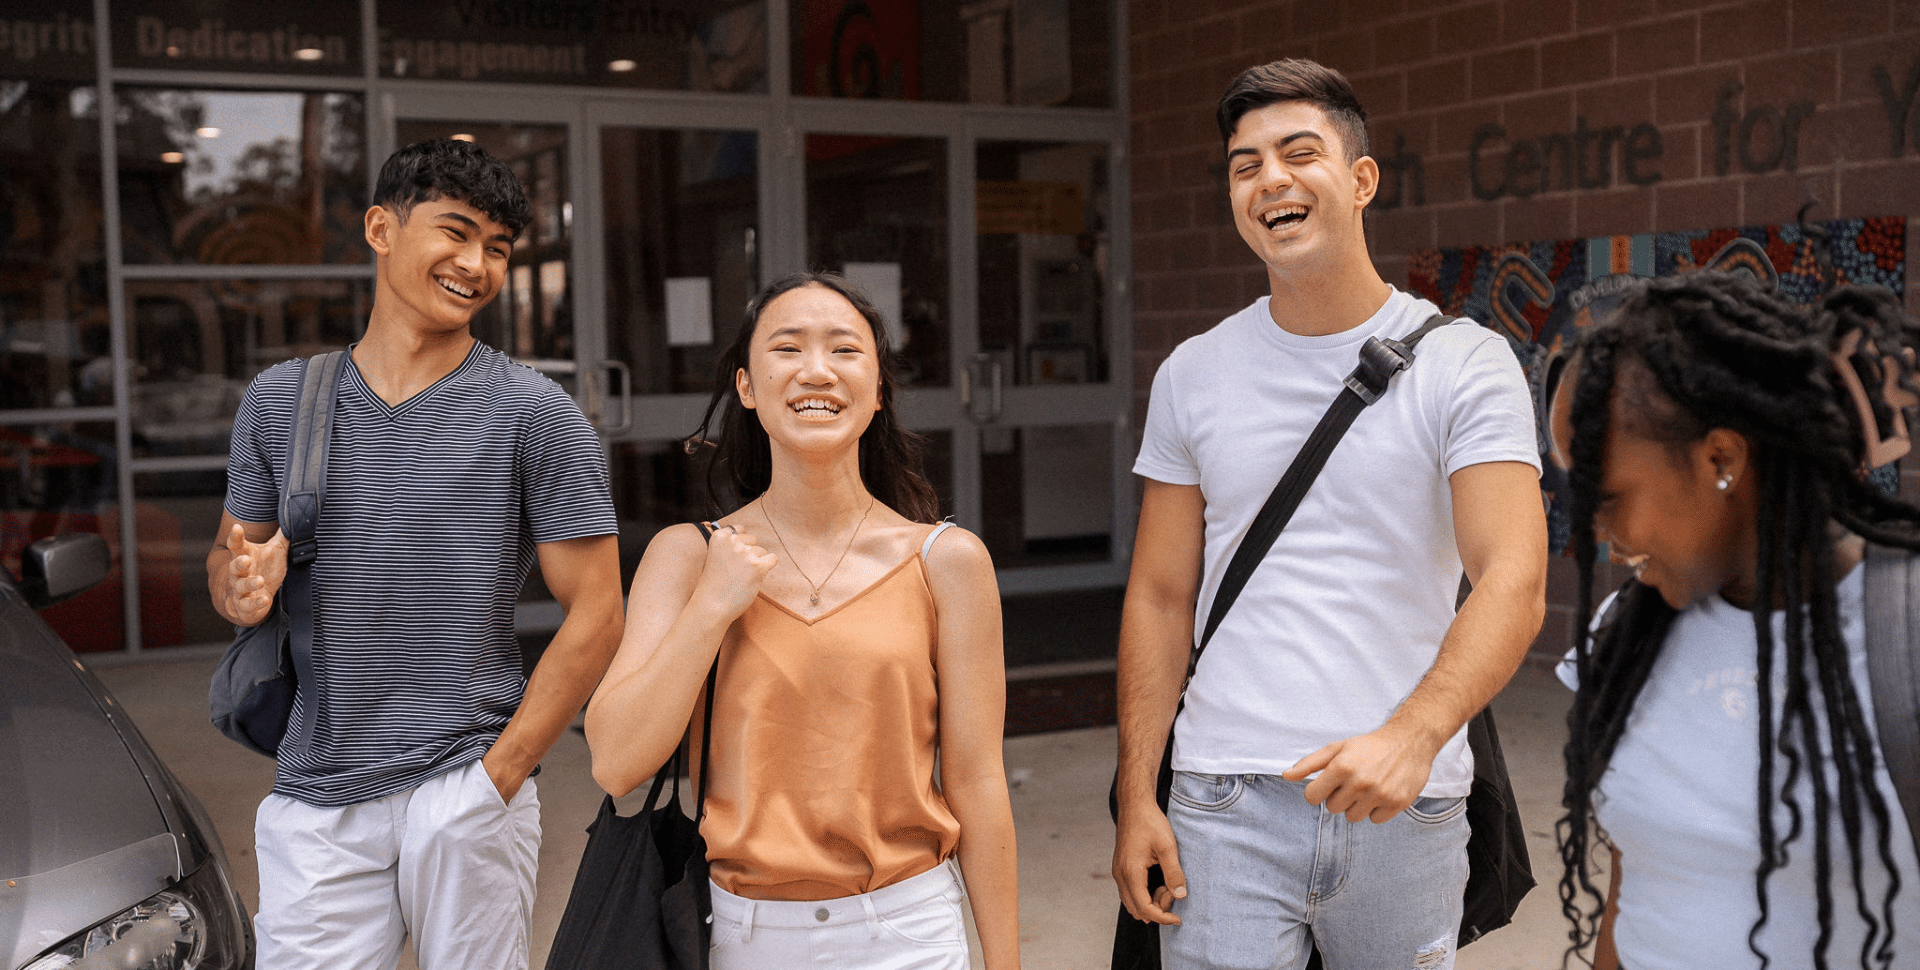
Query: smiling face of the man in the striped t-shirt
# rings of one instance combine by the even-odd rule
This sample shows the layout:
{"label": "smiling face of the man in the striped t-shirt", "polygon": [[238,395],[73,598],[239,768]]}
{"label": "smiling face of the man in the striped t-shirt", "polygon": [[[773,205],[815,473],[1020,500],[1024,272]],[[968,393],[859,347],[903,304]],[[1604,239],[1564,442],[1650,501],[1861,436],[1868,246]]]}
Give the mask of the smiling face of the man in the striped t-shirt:
{"label": "smiling face of the man in the striped t-shirt", "polygon": [[461,200],[419,202],[405,215],[367,209],[367,244],[378,261],[374,313],[428,332],[467,330],[499,294],[513,240],[507,227]]}

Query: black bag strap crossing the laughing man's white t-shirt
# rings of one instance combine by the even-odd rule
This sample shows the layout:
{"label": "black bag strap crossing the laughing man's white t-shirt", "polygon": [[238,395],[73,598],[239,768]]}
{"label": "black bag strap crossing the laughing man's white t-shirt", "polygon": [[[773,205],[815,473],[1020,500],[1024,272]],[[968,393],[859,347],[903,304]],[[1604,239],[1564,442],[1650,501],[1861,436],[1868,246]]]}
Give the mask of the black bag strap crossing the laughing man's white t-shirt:
{"label": "black bag strap crossing the laughing man's white t-shirt", "polygon": [[1313,486],[1313,478],[1327,467],[1327,457],[1332,455],[1332,448],[1340,444],[1354,419],[1386,394],[1394,375],[1413,365],[1413,348],[1427,334],[1455,319],[1434,313],[1427,317],[1427,323],[1419,330],[1407,334],[1405,340],[1369,336],[1359,348],[1359,367],[1346,376],[1346,388],[1334,398],[1332,407],[1327,409],[1327,415],[1321,417],[1313,432],[1308,434],[1308,444],[1294,455],[1294,463],[1281,476],[1281,484],[1273,486],[1273,494],[1267,496],[1265,505],[1254,515],[1254,524],[1246,528],[1246,536],[1240,538],[1233,559],[1227,561],[1227,570],[1219,578],[1219,590],[1213,594],[1213,605],[1208,609],[1200,643],[1194,645],[1192,663],[1200,661],[1200,651],[1206,649],[1208,640],[1213,640],[1213,630],[1227,618],[1227,611],[1238,599],[1240,590],[1246,588],[1246,580],[1254,576],[1254,569],[1267,557],[1267,549],[1273,549],[1273,542],[1281,538],[1281,530],[1294,517],[1300,499],[1306,497],[1308,488]]}

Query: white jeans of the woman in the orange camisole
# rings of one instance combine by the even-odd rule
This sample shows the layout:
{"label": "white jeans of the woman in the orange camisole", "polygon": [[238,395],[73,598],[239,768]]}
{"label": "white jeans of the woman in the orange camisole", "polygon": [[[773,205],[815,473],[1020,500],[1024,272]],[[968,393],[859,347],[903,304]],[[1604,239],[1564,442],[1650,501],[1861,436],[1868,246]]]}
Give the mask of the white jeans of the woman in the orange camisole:
{"label": "white jeans of the woman in the orange camisole", "polygon": [[816,903],[712,887],[712,970],[966,970],[960,874],[941,862],[872,893]]}

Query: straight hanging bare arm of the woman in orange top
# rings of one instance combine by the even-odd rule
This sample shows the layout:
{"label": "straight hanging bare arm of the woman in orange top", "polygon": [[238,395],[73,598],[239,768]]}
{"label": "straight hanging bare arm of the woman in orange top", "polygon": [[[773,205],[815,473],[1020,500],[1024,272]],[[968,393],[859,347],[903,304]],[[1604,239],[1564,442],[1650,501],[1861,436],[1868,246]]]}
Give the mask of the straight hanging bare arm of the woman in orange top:
{"label": "straight hanging bare arm of the woman in orange top", "polygon": [[941,791],[960,822],[960,872],[989,970],[1020,968],[1020,859],[1006,793],[1006,659],[987,547],[950,528],[927,555],[939,617]]}

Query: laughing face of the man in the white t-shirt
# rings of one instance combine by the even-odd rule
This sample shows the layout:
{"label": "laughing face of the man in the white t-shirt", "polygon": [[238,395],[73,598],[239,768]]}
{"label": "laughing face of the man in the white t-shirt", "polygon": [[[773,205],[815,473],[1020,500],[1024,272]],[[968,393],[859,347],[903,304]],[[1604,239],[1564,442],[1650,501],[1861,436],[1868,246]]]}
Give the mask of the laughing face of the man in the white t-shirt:
{"label": "laughing face of the man in the white t-shirt", "polygon": [[1311,102],[1267,104],[1240,117],[1227,140],[1227,196],[1275,292],[1304,277],[1371,271],[1361,211],[1379,173],[1371,158],[1348,158],[1340,129]]}

